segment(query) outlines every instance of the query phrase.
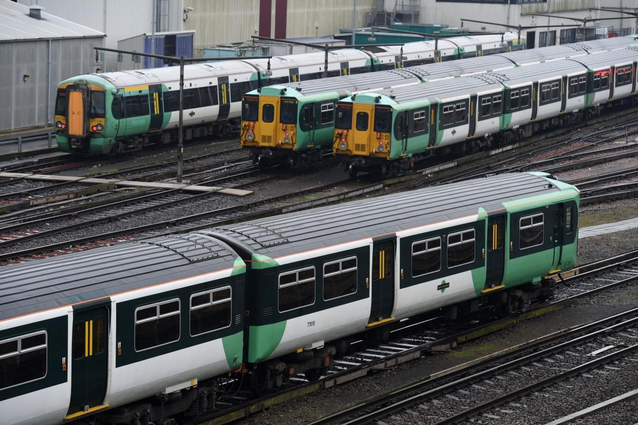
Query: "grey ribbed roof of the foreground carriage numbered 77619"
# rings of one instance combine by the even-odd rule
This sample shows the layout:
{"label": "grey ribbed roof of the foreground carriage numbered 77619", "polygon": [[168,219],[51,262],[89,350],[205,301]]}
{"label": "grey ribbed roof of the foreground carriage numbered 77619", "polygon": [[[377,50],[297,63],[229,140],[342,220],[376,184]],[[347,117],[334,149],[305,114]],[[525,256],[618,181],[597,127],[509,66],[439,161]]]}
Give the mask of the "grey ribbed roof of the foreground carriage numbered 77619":
{"label": "grey ribbed roof of the foreground carriage numbered 77619", "polygon": [[[202,231],[234,240],[256,254],[308,252],[445,220],[500,210],[504,203],[577,189],[534,173],[508,173],[417,191],[313,208]],[[230,242],[232,244],[232,242]]]}

